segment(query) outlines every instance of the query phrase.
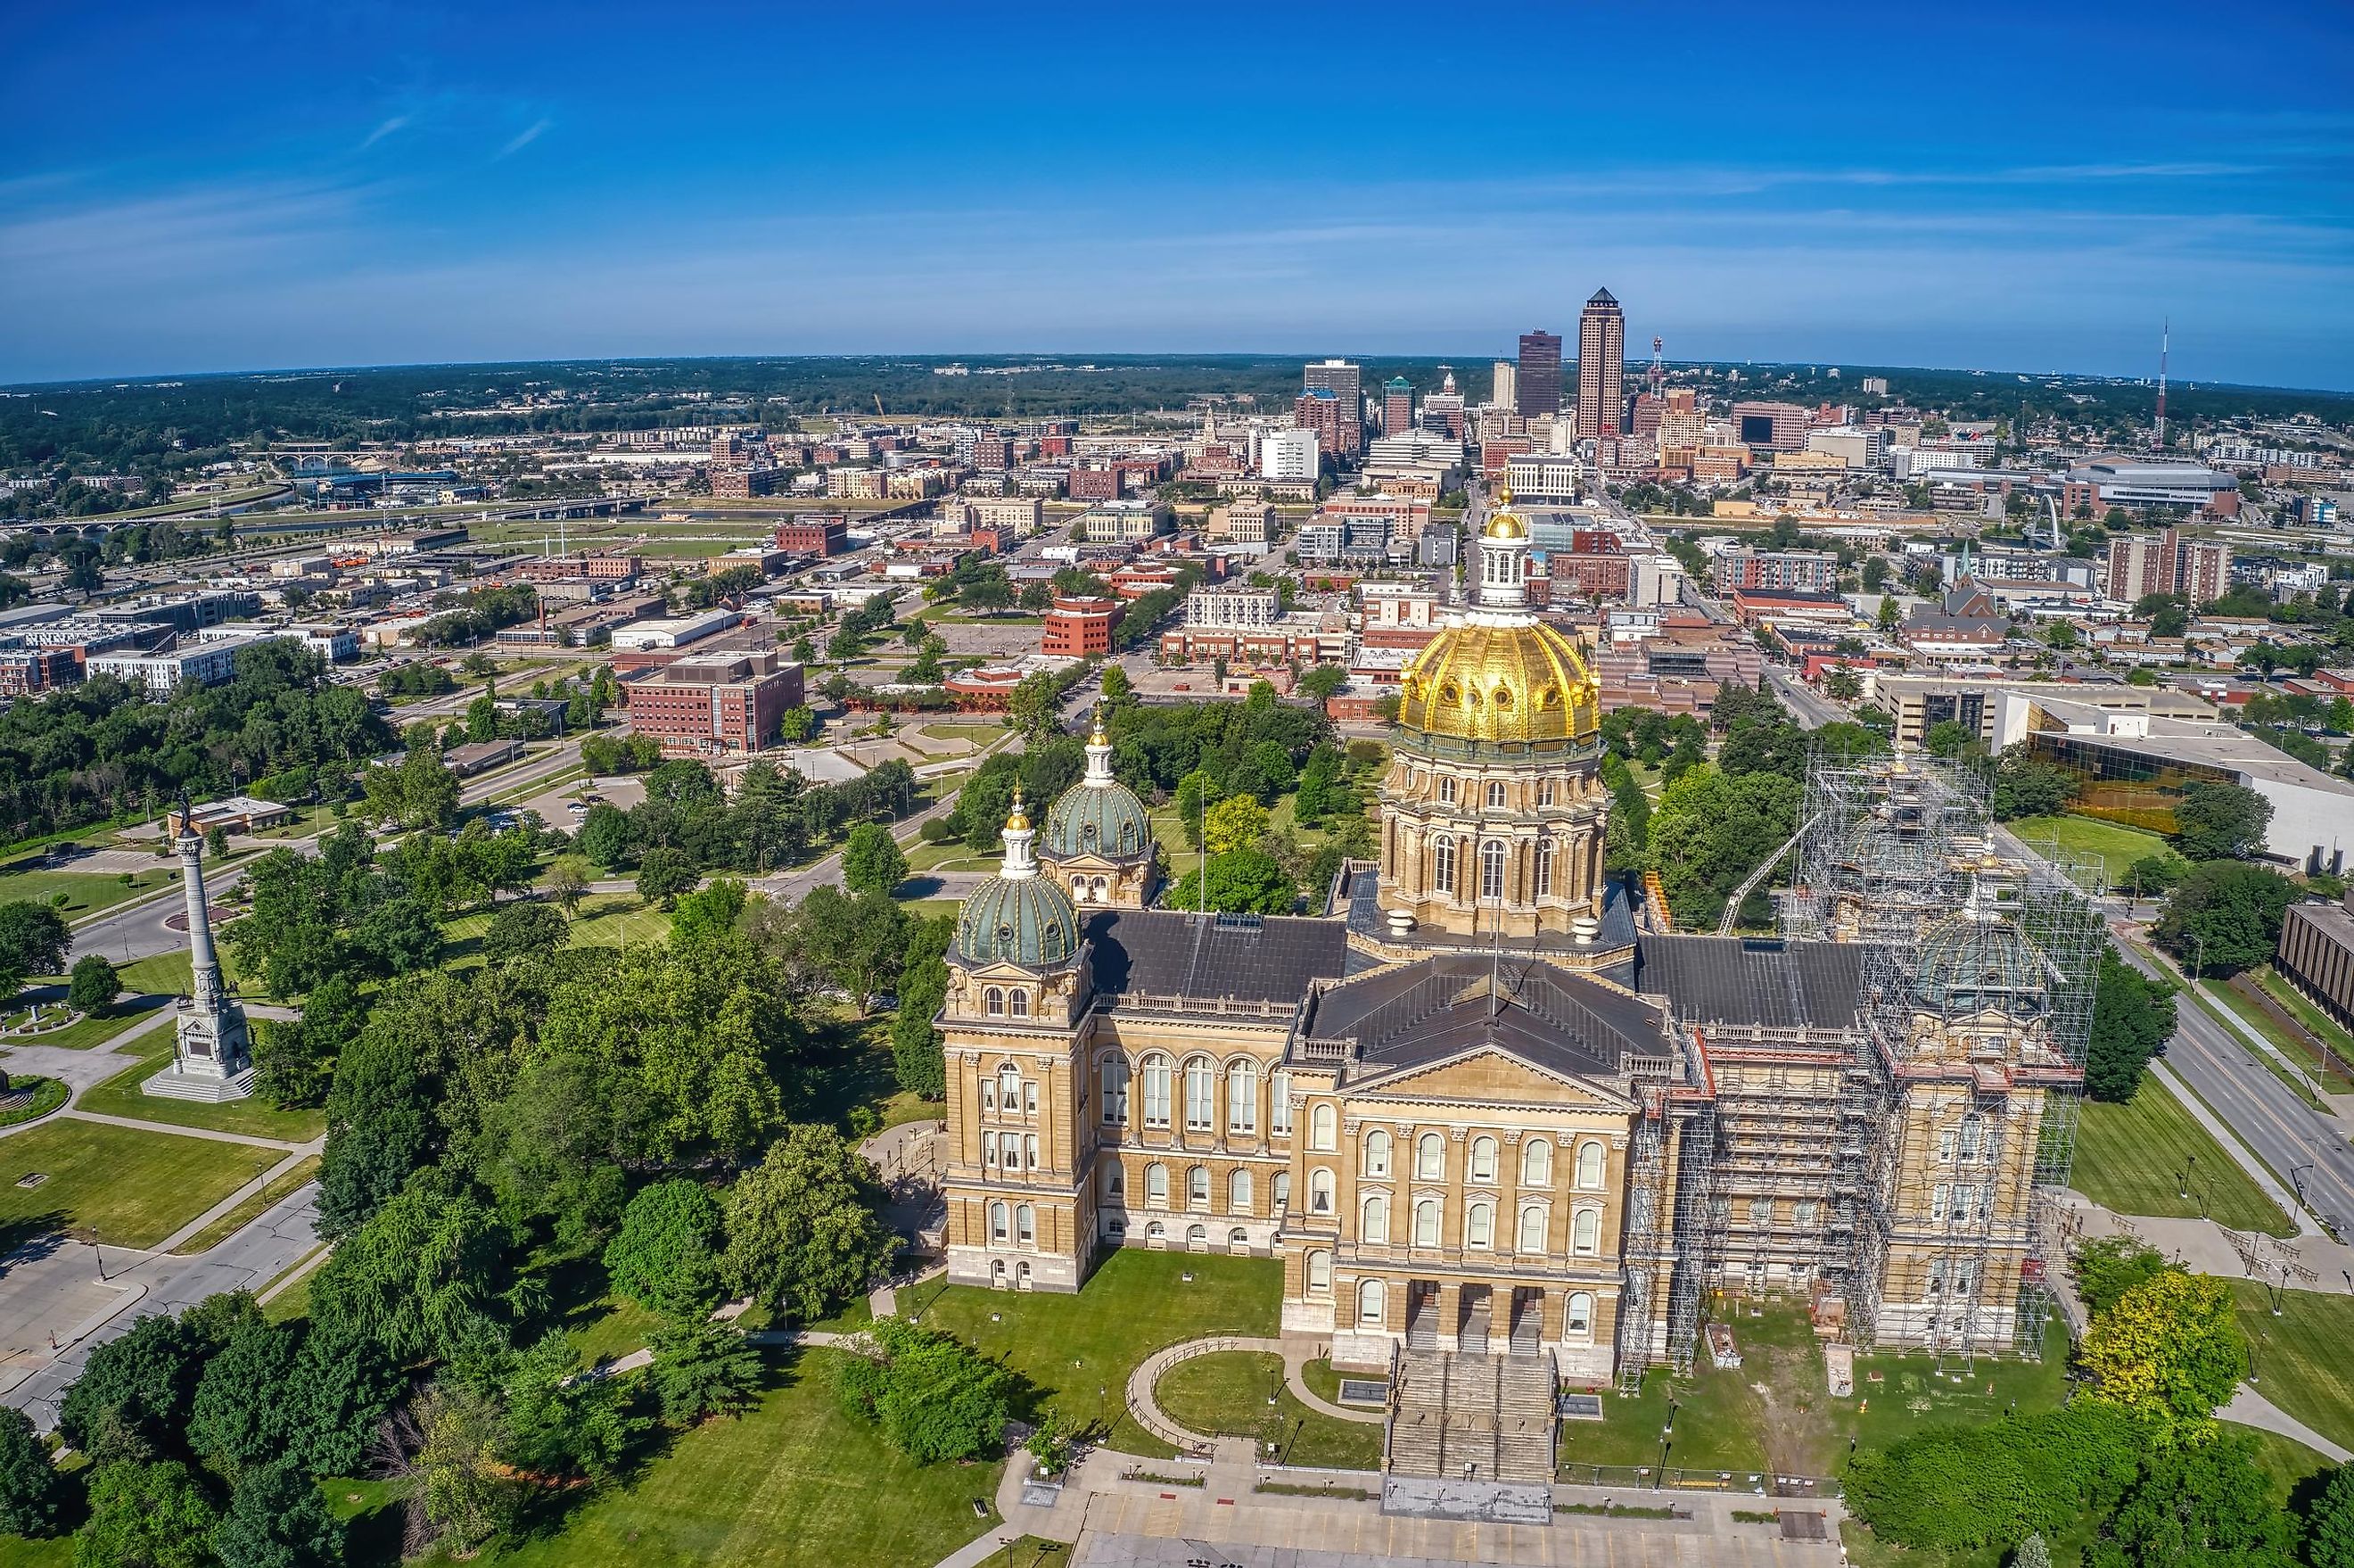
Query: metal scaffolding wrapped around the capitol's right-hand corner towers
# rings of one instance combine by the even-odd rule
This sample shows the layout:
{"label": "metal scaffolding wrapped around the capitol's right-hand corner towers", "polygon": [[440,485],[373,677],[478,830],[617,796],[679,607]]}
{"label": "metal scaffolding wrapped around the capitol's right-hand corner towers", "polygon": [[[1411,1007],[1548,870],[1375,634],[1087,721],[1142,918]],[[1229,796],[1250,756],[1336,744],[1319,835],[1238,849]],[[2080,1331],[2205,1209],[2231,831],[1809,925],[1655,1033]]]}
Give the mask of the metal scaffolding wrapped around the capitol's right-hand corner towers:
{"label": "metal scaffolding wrapped around the capitol's right-hand corner towers", "polygon": [[[1784,937],[1860,946],[1822,1288],[1862,1344],[1886,1328],[1940,1361],[2039,1354],[2104,939],[2097,873],[1999,829],[1966,765],[1817,760],[1801,819]],[[2010,1158],[2027,1118],[2032,1158]]]}

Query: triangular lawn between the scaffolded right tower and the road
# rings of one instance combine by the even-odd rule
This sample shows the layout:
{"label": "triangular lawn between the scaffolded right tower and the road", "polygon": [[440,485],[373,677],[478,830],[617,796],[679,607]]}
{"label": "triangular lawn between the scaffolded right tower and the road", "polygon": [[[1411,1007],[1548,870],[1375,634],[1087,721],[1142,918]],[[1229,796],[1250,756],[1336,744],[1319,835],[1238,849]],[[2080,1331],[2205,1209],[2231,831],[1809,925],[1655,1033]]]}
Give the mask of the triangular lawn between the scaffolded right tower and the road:
{"label": "triangular lawn between the scaffolded right tower and the road", "polygon": [[[2189,1182],[2185,1184],[2185,1172]],[[2222,1144],[2159,1078],[2126,1104],[2088,1099],[2076,1123],[2076,1165],[2069,1184],[2119,1215],[2196,1220],[2241,1231],[2293,1236],[2288,1215],[2248,1180]]]}

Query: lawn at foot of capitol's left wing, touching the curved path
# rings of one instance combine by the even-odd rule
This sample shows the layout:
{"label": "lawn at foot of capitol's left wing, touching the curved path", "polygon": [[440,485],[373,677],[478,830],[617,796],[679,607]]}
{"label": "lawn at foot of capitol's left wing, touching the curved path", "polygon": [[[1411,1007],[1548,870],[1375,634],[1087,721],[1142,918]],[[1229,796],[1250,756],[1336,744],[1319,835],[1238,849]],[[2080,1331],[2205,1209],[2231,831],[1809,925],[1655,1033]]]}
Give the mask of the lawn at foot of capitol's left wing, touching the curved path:
{"label": "lawn at foot of capitol's left wing, touching the curved path", "polygon": [[[932,1283],[902,1290],[899,1311],[1003,1358],[1064,1422],[1109,1431],[1128,1453],[1165,1457],[1170,1448],[1128,1420],[1128,1373],[1179,1340],[1274,1337],[1281,1297],[1283,1267],[1266,1257],[1121,1248],[1078,1295]],[[991,1323],[991,1314],[1000,1321]]]}

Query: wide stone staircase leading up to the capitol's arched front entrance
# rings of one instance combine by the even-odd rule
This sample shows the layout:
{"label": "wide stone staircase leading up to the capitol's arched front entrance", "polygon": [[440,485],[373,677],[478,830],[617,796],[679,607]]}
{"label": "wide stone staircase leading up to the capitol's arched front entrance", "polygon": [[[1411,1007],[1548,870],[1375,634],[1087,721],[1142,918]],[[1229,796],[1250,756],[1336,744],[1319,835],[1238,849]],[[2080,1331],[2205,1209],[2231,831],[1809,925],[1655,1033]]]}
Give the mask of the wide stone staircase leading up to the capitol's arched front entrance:
{"label": "wide stone staircase leading up to the capitol's arched front entrance", "polygon": [[1391,1380],[1387,1469],[1434,1481],[1549,1486],[1551,1361],[1403,1351]]}

